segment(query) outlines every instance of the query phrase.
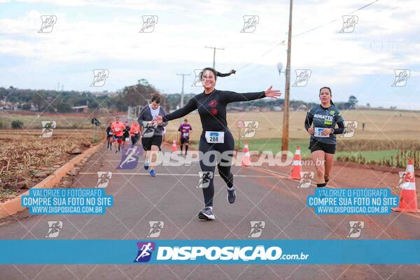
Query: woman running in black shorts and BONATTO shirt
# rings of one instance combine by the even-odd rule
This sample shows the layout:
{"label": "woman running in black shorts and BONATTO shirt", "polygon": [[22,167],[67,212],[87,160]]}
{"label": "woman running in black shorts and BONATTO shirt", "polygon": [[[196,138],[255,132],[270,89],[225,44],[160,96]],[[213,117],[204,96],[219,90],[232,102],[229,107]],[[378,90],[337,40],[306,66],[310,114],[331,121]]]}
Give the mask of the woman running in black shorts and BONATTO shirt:
{"label": "woman running in black shorts and BONATTO shirt", "polygon": [[[321,87],[319,90],[321,104],[309,109],[304,121],[305,129],[311,134],[309,149],[316,167],[318,188],[327,186],[330,178],[336,146],[335,134],[344,133],[344,119],[331,98],[330,87]],[[312,124],[314,127],[311,127]],[[338,128],[335,128],[336,124]]]}

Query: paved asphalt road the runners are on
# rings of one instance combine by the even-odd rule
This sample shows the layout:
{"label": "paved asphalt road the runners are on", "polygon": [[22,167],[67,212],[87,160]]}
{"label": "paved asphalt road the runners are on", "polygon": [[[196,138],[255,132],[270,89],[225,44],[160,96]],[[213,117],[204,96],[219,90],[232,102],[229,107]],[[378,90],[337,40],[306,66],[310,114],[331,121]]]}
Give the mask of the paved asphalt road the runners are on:
{"label": "paved asphalt road the runners are on", "polygon": [[[169,151],[168,146],[164,147]],[[312,188],[284,179],[290,168],[233,167],[237,202],[229,204],[216,176],[215,221],[200,221],[199,165],[158,167],[152,178],[142,163],[116,169],[120,154],[102,148],[76,176],[75,188],[94,188],[97,172],[113,172],[103,216],[31,216],[0,226],[0,239],[46,239],[48,221],[62,221],[57,239],[145,239],[149,221],[165,223],[157,239],[248,239],[251,221],[265,221],[260,239],[349,239],[349,221],[365,221],[360,239],[418,239],[419,218],[319,216],[306,207]],[[339,177],[335,183],[339,184]],[[363,186],[358,186],[363,187]],[[44,252],[57,253],[60,252]],[[112,252],[110,252],[112,253]],[[135,258],[135,255],[133,256]],[[395,255],[398,258],[398,255]],[[420,279],[419,265],[3,265],[0,279]]]}

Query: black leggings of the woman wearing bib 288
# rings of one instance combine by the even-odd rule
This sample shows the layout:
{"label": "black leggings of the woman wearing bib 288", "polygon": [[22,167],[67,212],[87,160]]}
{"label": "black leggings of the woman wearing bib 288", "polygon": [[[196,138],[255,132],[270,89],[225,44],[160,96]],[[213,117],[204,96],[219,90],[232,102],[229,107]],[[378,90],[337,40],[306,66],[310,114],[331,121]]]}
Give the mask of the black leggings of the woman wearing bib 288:
{"label": "black leggings of the woman wearing bib 288", "polygon": [[[232,156],[233,156],[233,149],[235,148],[235,141],[233,140],[232,134],[227,131],[225,132],[225,143],[218,143],[218,144],[210,144],[207,143],[205,132],[202,132],[200,137],[200,146],[199,151],[200,153],[200,167],[202,172],[213,172],[214,169],[218,167],[218,172],[221,175],[222,179],[226,182],[229,188],[233,186],[233,174],[230,172],[230,167],[232,165]],[[213,151],[213,152],[211,152]],[[222,154],[225,151],[229,151],[229,153],[224,153],[221,158],[216,160],[215,152]],[[205,160],[203,160],[203,157]],[[219,162],[220,160],[220,162]],[[221,165],[223,162],[223,165]],[[209,164],[211,163],[211,164]],[[207,188],[203,188],[203,195],[204,195],[204,204],[205,207],[213,207],[213,197],[214,197],[214,176],[211,176],[211,180],[209,186]]]}

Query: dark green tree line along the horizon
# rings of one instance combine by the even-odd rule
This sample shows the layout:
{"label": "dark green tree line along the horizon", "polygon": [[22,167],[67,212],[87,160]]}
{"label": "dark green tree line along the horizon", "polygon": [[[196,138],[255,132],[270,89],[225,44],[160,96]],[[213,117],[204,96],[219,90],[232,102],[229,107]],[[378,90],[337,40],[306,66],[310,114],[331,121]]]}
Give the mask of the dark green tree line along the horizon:
{"label": "dark green tree line along the horizon", "polygon": [[[35,110],[48,113],[69,113],[73,106],[87,105],[89,109],[110,109],[116,111],[127,111],[128,106],[144,106],[151,99],[151,94],[158,92],[147,80],[138,80],[136,85],[130,85],[120,90],[115,95],[94,95],[91,92],[78,91],[57,91],[57,90],[22,90],[10,86],[0,87],[0,102],[17,104],[18,109]],[[181,94],[162,94],[163,104],[170,110],[177,109],[181,104]],[[195,94],[184,94],[184,104],[194,97]],[[282,108],[284,99],[264,101],[256,100],[252,104],[247,102],[235,102],[230,108],[246,110],[249,106],[266,107],[274,110]],[[335,102],[338,109],[354,109],[358,100],[351,95],[348,102]],[[290,108],[294,110],[309,109],[318,103],[291,100]]]}

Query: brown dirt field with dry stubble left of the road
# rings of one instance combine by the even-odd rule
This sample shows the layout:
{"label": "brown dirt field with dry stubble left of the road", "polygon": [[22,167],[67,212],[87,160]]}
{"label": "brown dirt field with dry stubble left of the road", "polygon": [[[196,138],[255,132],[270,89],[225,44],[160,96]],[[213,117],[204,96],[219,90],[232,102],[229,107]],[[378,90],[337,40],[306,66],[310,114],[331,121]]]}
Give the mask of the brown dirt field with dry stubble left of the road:
{"label": "brown dirt field with dry stubble left of the road", "polygon": [[[99,141],[99,130],[0,130],[0,202],[25,192]],[[76,151],[75,151],[76,149]],[[78,151],[77,151],[78,150]]]}

